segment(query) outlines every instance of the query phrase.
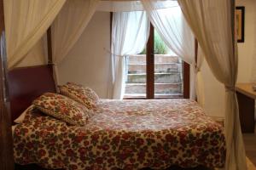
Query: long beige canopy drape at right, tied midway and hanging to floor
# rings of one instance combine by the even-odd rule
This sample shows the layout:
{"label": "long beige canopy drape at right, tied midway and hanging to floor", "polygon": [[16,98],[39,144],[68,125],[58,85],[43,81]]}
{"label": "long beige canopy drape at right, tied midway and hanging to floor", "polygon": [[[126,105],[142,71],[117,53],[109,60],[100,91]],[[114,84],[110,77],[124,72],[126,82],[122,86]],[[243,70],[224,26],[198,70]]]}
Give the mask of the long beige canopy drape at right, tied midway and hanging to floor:
{"label": "long beige canopy drape at right, tied midway and hanging to floor", "polygon": [[186,20],[195,33],[205,59],[219,82],[226,88],[225,137],[228,170],[246,170],[246,156],[236,99],[237,47],[235,1],[178,0]]}

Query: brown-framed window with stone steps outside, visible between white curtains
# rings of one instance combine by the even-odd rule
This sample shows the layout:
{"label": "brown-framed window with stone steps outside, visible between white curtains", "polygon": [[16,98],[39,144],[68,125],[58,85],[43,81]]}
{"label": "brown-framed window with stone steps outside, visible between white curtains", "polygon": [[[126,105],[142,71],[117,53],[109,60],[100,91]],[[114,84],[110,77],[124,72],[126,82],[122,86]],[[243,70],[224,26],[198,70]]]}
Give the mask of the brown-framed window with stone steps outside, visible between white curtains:
{"label": "brown-framed window with stone steps outside, visible between white curtains", "polygon": [[147,47],[126,62],[125,99],[189,98],[189,65],[150,26]]}

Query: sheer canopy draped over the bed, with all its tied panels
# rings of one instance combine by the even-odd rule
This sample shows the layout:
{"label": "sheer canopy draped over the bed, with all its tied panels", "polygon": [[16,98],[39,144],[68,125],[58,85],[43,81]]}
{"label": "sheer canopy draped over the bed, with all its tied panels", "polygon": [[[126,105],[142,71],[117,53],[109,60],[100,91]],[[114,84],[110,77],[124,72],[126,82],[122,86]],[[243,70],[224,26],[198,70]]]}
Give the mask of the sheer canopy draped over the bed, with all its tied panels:
{"label": "sheer canopy draped over the bed, with all its tied panels", "polygon": [[[176,8],[176,11],[169,15],[173,8]],[[190,38],[191,41],[191,37],[195,35],[212,73],[226,88],[225,168],[247,169],[235,93],[237,48],[234,34],[234,1],[141,0],[100,3],[99,0],[4,0],[9,69],[14,68],[25,58],[49,26],[52,26],[53,37],[52,60],[54,65],[58,65],[78,40],[96,10],[115,13],[146,11],[148,20],[160,32],[168,47],[190,65],[196,63],[191,55],[194,46],[185,40]],[[179,24],[185,30],[177,29],[177,18],[182,20]],[[196,72],[200,71],[200,65],[196,65]],[[57,77],[55,78],[57,80]]]}

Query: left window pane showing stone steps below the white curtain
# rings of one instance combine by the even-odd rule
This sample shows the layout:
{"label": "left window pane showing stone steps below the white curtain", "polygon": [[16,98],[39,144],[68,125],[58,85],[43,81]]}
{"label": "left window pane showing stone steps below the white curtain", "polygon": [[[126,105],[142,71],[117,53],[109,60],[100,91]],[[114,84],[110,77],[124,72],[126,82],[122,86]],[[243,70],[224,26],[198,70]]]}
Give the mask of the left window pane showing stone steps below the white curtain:
{"label": "left window pane showing stone steps below the white curtain", "polygon": [[146,54],[130,55],[127,59],[125,97],[146,97]]}

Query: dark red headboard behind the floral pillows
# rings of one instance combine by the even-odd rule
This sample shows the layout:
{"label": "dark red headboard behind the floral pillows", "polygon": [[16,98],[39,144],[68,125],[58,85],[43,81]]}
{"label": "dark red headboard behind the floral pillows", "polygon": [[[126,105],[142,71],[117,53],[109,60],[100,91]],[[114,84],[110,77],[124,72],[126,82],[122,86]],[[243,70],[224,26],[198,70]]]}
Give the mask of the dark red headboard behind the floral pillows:
{"label": "dark red headboard behind the floral pillows", "polygon": [[8,73],[12,121],[45,92],[55,92],[51,65],[16,68]]}

